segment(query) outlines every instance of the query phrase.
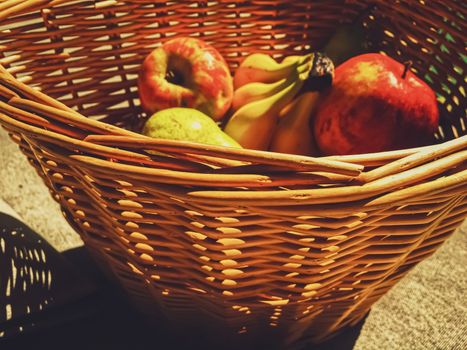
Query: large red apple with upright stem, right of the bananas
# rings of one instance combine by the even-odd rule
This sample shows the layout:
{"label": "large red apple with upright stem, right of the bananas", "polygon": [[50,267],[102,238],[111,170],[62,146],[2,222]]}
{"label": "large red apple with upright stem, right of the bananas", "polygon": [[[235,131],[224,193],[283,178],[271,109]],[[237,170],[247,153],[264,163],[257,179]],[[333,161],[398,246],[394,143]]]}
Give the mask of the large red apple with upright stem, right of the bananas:
{"label": "large red apple with upright stem, right of the bananas", "polygon": [[357,154],[427,145],[438,126],[433,90],[382,54],[364,54],[335,70],[314,118],[323,154]]}

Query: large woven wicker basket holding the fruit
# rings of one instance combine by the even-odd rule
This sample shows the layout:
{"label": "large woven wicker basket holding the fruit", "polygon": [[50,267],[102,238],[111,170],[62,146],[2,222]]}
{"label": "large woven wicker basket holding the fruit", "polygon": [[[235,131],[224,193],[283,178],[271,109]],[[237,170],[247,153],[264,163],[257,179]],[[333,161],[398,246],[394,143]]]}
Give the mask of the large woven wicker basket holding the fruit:
{"label": "large woven wicker basket holding the fruit", "polygon": [[373,50],[412,60],[438,92],[439,144],[309,158],[134,132],[138,67],[165,39],[201,37],[233,69],[253,51],[319,49],[368,1],[2,1],[0,123],[143,309],[237,338],[319,341],[467,212],[465,4],[371,4]]}

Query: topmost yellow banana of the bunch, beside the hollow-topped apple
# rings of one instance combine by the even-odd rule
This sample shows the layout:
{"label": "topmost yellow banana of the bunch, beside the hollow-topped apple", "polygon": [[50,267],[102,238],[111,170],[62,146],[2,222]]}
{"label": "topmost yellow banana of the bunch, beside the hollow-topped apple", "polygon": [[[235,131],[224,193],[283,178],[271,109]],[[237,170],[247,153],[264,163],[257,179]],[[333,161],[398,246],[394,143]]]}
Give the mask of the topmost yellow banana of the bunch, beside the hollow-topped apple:
{"label": "topmost yellow banana of the bunch, beside the hollow-topped apple", "polygon": [[236,69],[234,75],[234,88],[238,89],[251,82],[272,83],[287,78],[294,73],[297,67],[313,60],[313,54],[297,56],[297,59],[291,59],[287,62],[277,63],[272,57],[254,53],[245,58],[245,60]]}

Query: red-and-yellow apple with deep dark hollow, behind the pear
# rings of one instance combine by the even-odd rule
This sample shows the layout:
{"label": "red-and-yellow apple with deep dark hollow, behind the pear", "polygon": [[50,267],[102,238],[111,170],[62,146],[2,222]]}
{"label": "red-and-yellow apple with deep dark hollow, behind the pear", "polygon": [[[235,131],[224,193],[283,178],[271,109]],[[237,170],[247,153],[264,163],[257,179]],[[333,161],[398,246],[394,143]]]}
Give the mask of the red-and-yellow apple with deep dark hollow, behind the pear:
{"label": "red-and-yellow apple with deep dark hollow, behind the pear", "polygon": [[138,91],[148,113],[187,107],[220,120],[232,102],[233,85],[221,54],[202,40],[185,37],[165,42],[145,58]]}

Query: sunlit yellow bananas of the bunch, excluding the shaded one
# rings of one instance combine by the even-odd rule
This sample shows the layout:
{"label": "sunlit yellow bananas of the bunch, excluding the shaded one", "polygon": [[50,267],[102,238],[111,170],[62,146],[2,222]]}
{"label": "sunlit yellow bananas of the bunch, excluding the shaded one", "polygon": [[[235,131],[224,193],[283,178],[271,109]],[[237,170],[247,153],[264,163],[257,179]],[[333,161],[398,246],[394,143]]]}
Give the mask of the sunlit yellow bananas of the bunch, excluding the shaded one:
{"label": "sunlit yellow bananas of the bunch, excluding the shaded one", "polygon": [[234,75],[233,115],[224,131],[244,148],[267,150],[279,113],[303,87],[313,58],[289,56],[278,63],[265,54],[248,56]]}

